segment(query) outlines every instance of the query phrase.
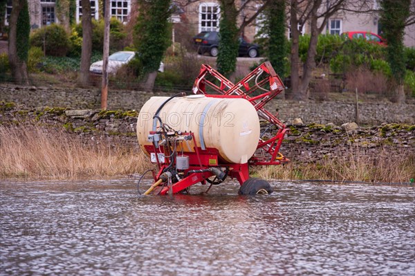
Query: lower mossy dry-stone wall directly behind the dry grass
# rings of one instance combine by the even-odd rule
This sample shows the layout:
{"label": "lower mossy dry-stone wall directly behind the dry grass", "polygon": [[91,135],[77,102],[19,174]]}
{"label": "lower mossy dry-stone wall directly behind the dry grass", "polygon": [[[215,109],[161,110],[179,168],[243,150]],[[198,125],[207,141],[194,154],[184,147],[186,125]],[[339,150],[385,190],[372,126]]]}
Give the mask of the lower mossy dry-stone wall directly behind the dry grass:
{"label": "lower mossy dry-stone wall directly behind the dry grass", "polygon": [[[50,131],[68,131],[83,137],[85,141],[104,137],[138,147],[137,111],[22,108],[0,102],[0,127],[37,125]],[[266,129],[265,122],[261,125],[262,129]],[[288,127],[291,134],[286,136],[281,151],[296,163],[315,162],[328,156],[398,158],[414,154],[415,149],[415,125],[383,124],[351,131],[334,124],[299,123]],[[272,137],[273,131],[266,131],[263,138]]]}

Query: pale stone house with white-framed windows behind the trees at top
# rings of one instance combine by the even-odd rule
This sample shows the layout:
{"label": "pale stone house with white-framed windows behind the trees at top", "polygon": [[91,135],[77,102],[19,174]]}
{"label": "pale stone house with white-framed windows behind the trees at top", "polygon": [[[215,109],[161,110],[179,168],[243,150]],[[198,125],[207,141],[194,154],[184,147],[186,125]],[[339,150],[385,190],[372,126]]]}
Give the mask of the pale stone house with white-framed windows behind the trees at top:
{"label": "pale stone house with white-framed windows behind the trees at top", "polygon": [[[57,16],[56,0],[28,0],[30,10],[30,24],[33,29],[42,26],[47,26],[52,23],[59,23]],[[62,1],[62,0],[60,0]],[[80,0],[76,1],[75,21],[80,22],[82,17],[82,8],[80,7]],[[122,22],[129,21],[131,9],[136,5],[136,0],[110,0],[111,1],[111,15]],[[237,0],[237,8],[241,7],[246,0]],[[6,25],[7,19],[11,13],[12,0],[7,1],[6,7]],[[219,30],[219,21],[221,17],[221,8],[217,0],[174,0],[172,3],[179,7],[177,15],[174,16],[174,26],[176,30],[176,37],[183,36],[190,38],[203,30]],[[254,14],[261,1],[252,1],[238,17],[239,24],[243,18],[250,17]],[[91,8],[93,18],[99,19],[102,17],[102,0],[91,0]],[[324,8],[324,7],[322,7]],[[378,8],[378,0],[373,1],[373,8]],[[248,42],[253,42],[255,35],[264,22],[264,16],[259,15],[252,24],[248,25],[243,30],[243,37]],[[309,33],[307,23],[297,26],[302,34]],[[323,33],[341,34],[347,31],[361,30],[369,33],[380,33],[379,16],[376,12],[368,13],[354,13],[354,12],[338,12],[333,15],[326,24]],[[287,28],[287,37],[290,38],[290,28]],[[408,26],[405,29],[405,46],[415,47],[415,24]]]}

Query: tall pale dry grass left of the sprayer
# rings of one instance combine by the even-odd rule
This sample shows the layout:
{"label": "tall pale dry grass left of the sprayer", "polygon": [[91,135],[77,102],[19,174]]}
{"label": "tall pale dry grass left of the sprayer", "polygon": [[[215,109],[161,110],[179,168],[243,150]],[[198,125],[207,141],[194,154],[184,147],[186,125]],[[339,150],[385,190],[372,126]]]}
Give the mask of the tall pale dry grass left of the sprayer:
{"label": "tall pale dry grass left of the sprayer", "polygon": [[[85,140],[85,139],[84,139]],[[111,178],[149,167],[138,148],[105,138],[84,143],[64,131],[0,127],[0,176],[6,178]]]}

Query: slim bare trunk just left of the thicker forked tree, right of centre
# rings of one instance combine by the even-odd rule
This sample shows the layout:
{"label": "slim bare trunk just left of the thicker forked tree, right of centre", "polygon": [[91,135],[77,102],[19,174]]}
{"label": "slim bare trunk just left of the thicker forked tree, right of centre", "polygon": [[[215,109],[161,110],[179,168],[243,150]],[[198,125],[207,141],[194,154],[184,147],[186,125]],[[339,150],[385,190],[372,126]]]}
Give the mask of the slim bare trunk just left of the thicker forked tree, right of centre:
{"label": "slim bare trunk just left of the thicker forked tree, right of centre", "polygon": [[297,0],[291,1],[290,24],[291,24],[291,97],[295,100],[302,100],[299,93],[301,80],[299,79],[299,30],[297,19]]}

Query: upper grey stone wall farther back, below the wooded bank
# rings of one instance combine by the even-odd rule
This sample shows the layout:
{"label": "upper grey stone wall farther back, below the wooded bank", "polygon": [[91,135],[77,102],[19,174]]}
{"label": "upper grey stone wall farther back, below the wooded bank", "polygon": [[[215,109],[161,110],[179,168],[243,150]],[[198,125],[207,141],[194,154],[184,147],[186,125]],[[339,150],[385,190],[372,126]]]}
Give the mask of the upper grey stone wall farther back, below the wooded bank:
{"label": "upper grey stone wall farther back, below the wooded bank", "polygon": [[[139,111],[151,96],[170,96],[173,93],[143,91],[114,91],[108,95],[108,109]],[[76,89],[50,87],[24,87],[10,84],[0,85],[0,101],[24,104],[30,108],[65,107],[68,109],[99,109],[98,89]],[[302,118],[303,122],[341,125],[356,120],[353,102],[294,102],[274,99],[266,109],[279,113],[284,122]],[[380,125],[386,123],[415,124],[415,104],[393,104],[390,102],[364,102],[359,104],[360,125]]]}

